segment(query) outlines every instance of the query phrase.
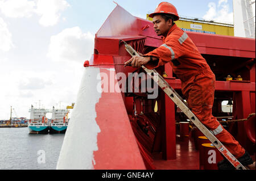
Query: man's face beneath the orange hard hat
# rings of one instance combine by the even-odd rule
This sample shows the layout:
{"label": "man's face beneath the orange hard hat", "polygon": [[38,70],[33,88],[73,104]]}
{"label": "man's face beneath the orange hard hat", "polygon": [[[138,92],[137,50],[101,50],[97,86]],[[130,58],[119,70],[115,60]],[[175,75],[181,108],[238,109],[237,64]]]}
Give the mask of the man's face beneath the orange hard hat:
{"label": "man's face beneath the orange hard hat", "polygon": [[166,20],[164,20],[161,15],[155,15],[153,17],[153,24],[156,35],[166,37],[167,33],[172,27],[172,20],[169,19],[166,22]]}

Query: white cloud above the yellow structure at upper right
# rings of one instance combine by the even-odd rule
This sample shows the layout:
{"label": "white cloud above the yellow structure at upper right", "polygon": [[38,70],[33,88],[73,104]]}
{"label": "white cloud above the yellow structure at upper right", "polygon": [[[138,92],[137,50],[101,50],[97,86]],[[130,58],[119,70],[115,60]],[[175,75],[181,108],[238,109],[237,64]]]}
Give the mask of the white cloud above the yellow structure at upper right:
{"label": "white cloud above the yellow structure at upper right", "polygon": [[228,0],[219,0],[216,3],[208,4],[209,10],[203,16],[205,20],[214,20],[216,22],[233,23],[233,12],[229,12]]}

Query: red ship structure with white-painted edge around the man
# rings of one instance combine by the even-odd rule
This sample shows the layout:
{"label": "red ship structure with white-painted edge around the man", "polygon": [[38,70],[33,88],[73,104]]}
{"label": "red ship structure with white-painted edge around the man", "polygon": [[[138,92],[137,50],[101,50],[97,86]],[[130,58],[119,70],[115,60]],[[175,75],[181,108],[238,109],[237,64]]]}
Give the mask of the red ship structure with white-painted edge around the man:
{"label": "red ship structure with white-painted edge around the man", "polygon": [[[216,75],[213,115],[255,159],[255,116],[229,121],[255,113],[255,39],[187,34]],[[142,54],[162,45],[152,22],[115,7],[96,33],[57,169],[217,169],[220,153],[210,144],[201,145],[207,139],[199,138],[203,135],[192,124],[183,123],[187,117],[162,90],[156,99],[148,99],[148,92],[141,90],[111,91],[120,73],[128,77],[142,72],[119,65],[130,59],[121,40]],[[169,64],[156,70],[183,96]],[[226,79],[228,75],[233,79]],[[242,79],[235,79],[238,75]],[[104,81],[110,85],[108,91]],[[232,111],[222,111],[225,100]]]}

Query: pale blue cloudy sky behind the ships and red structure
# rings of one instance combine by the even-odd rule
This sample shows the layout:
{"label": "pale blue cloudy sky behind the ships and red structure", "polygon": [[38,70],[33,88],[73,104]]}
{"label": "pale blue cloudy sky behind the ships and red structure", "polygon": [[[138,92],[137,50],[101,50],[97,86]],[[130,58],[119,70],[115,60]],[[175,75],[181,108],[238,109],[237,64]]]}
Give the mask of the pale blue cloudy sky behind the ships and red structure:
{"label": "pale blue cloudy sky behind the ships and red structure", "polygon": [[[162,1],[115,0],[146,19]],[[174,0],[182,17],[233,23],[232,0]],[[94,36],[115,8],[112,0],[0,0],[0,120],[76,101]],[[50,118],[51,115],[48,115]]]}

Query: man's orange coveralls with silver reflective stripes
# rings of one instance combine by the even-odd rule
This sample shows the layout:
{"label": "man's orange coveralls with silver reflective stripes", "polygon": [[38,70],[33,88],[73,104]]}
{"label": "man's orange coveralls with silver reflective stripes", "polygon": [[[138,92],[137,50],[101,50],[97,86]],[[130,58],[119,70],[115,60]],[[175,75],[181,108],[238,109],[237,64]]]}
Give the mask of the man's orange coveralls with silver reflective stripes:
{"label": "man's orange coveralls with silver reflective stripes", "polygon": [[170,62],[192,112],[236,158],[245,154],[245,149],[212,115],[215,75],[187,33],[174,24],[163,38],[163,45],[144,56],[159,58],[157,66],[145,65],[148,69]]}

